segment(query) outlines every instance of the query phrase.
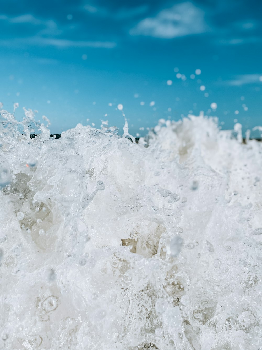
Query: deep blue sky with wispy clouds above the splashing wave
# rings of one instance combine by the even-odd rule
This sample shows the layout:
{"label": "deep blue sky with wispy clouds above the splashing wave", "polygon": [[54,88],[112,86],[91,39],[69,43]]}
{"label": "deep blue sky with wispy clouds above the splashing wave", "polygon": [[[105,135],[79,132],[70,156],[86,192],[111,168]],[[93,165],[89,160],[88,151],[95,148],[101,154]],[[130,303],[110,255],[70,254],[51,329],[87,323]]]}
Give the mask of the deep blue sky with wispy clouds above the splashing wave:
{"label": "deep blue sky with wispy clouds above the splashing wave", "polygon": [[223,128],[262,124],[261,1],[0,5],[0,102],[18,102],[17,118],[26,107],[51,133],[101,120],[122,128],[123,104],[134,135],[202,110]]}

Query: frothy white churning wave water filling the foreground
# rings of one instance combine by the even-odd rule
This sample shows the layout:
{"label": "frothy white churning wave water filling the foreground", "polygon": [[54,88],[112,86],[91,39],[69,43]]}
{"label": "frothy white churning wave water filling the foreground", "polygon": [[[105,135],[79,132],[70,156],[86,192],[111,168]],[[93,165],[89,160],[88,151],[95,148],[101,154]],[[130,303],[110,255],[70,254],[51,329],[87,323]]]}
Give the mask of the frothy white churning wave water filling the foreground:
{"label": "frothy white churning wave water filling the foreground", "polygon": [[0,349],[262,348],[260,142],[25,114],[1,111]]}

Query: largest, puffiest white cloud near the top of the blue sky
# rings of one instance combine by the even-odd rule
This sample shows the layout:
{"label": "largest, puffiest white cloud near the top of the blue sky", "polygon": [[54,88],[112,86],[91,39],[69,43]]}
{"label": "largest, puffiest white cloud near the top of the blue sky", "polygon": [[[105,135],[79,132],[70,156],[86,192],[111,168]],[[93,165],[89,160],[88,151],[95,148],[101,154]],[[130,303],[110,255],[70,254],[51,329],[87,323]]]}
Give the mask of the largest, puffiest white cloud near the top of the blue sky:
{"label": "largest, puffiest white cloud near the top of the blue sky", "polygon": [[191,2],[182,2],[140,21],[130,34],[169,39],[204,33],[208,30],[204,15],[204,11]]}

